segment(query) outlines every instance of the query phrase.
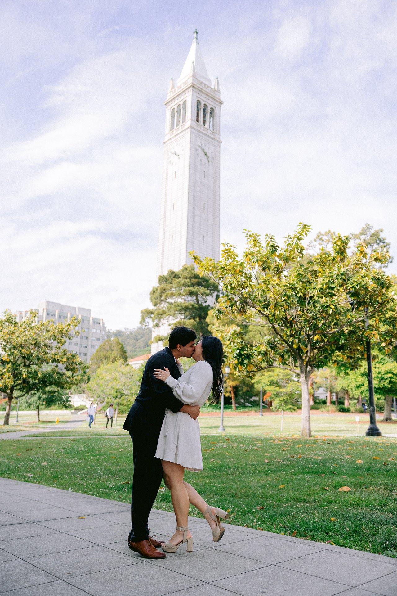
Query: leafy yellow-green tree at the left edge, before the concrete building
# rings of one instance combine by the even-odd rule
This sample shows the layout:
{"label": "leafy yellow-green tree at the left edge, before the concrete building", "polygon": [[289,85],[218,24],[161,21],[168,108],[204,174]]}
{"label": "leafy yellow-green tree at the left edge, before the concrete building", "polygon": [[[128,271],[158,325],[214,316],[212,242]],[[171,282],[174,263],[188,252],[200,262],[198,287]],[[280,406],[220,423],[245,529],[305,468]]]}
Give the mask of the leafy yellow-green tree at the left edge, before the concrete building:
{"label": "leafy yellow-green tree at the left edge, before the concrete building", "polygon": [[68,392],[86,373],[85,363],[64,347],[76,335],[77,319],[55,325],[37,321],[31,311],[18,322],[10,311],[0,318],[0,392],[7,398],[4,424],[10,420],[12,400],[29,393]]}

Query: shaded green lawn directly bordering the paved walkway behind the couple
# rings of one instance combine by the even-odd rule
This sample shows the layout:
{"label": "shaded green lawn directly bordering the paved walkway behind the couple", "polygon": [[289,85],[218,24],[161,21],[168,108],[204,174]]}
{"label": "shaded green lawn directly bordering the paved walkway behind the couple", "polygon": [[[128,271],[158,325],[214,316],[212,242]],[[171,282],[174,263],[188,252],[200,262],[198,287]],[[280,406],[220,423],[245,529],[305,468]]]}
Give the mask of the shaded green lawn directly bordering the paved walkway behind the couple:
{"label": "shaded green lawn directly bordering the paved walkway behind the couple", "polygon": [[[230,510],[230,523],[371,552],[397,548],[396,439],[204,434],[202,449],[204,471],[186,478]],[[0,441],[0,475],[129,502],[132,443],[125,435]],[[167,489],[155,507],[171,511]]]}

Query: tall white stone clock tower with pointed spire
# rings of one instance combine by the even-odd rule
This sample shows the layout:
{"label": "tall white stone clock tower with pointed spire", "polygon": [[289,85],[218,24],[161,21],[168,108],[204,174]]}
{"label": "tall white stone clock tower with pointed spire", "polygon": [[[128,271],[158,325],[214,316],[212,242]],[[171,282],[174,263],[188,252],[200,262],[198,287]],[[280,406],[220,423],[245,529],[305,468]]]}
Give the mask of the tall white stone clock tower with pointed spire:
{"label": "tall white stone clock tower with pointed spire", "polygon": [[[171,79],[165,101],[164,162],[157,278],[201,257],[220,256],[220,98],[201,54],[198,32],[182,73]],[[163,327],[163,326],[162,326]],[[154,329],[167,334],[169,327]],[[152,344],[152,353],[162,349]]]}

